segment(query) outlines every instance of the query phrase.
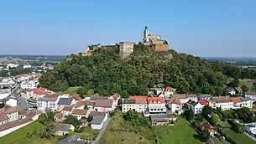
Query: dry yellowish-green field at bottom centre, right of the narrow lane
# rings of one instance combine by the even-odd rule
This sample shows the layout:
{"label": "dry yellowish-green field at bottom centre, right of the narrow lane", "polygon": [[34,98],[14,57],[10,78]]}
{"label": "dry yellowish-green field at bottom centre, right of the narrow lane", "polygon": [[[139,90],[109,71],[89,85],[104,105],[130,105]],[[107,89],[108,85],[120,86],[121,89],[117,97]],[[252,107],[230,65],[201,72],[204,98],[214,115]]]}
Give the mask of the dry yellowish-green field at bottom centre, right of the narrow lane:
{"label": "dry yellowish-green field at bottom centre, right of the narrow lane", "polygon": [[[147,139],[145,138],[147,137]],[[148,140],[148,139],[153,139]],[[154,144],[154,132],[133,128],[127,121],[123,120],[123,114],[119,112],[112,117],[99,143],[104,144]]]}

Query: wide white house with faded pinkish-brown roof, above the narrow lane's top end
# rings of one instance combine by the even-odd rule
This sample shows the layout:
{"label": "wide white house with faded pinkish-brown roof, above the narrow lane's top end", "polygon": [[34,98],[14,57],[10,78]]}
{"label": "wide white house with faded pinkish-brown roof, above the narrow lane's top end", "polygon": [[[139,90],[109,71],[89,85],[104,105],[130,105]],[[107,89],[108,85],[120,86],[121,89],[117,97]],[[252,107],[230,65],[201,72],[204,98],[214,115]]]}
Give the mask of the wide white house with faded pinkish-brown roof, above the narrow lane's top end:
{"label": "wide white house with faded pinkish-brown roof, above the narrow lane's top end", "polygon": [[115,109],[114,100],[96,100],[94,105],[95,111],[108,112]]}

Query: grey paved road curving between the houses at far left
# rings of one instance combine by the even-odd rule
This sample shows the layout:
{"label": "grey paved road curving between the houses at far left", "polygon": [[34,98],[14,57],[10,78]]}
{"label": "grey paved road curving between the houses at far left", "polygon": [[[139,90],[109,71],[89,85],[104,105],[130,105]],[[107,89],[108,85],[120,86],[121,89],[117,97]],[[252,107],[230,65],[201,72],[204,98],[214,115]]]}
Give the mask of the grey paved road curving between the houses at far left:
{"label": "grey paved road curving between the houses at far left", "polygon": [[18,87],[18,85],[16,85],[15,88],[13,89],[13,96],[15,96],[17,98],[17,100],[18,100],[17,108],[19,110],[26,110],[26,109],[28,109],[30,107],[34,107],[35,106],[35,105],[29,104],[27,100],[24,100],[24,98],[20,94],[20,88]]}

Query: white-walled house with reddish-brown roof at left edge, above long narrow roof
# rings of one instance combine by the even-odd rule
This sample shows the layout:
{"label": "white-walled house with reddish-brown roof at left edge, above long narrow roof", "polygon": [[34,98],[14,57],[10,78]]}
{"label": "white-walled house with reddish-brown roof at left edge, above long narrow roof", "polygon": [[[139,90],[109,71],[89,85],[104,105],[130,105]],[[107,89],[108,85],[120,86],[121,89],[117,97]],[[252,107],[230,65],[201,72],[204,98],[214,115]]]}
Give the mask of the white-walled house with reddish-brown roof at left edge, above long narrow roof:
{"label": "white-walled house with reddish-brown roof at left edge, above long narrow roof", "polygon": [[0,110],[0,125],[11,121],[18,121],[18,109],[10,105],[5,105]]}

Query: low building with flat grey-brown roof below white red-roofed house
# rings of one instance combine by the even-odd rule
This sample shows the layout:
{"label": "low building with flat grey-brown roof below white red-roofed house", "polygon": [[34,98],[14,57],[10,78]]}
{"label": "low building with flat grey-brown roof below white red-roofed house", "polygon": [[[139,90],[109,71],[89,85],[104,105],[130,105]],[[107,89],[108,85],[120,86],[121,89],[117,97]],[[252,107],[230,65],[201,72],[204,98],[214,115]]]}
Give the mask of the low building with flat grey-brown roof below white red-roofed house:
{"label": "low building with flat grey-brown roof below white red-roofed house", "polygon": [[165,125],[170,121],[170,118],[167,116],[167,114],[150,115],[150,119],[152,126]]}

